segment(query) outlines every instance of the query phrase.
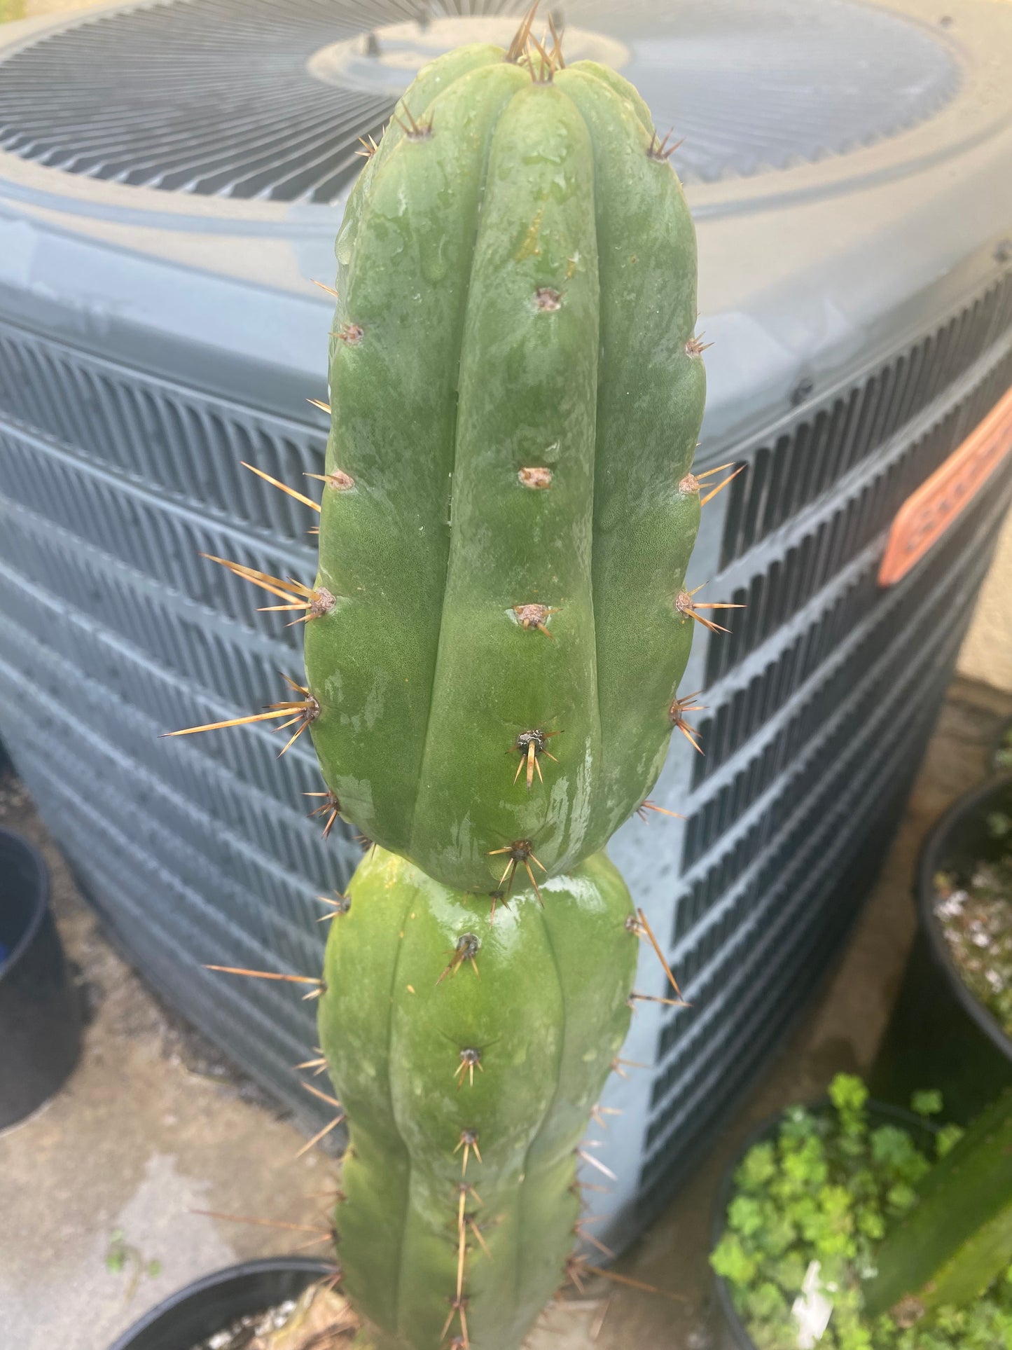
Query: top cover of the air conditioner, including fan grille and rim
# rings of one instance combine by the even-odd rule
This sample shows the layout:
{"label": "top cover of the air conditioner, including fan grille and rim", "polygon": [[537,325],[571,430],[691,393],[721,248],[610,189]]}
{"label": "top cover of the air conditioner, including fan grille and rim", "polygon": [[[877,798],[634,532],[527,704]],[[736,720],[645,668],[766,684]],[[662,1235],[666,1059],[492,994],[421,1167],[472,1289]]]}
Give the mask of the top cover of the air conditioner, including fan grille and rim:
{"label": "top cover of the air conditioner, including fan grille and rim", "polygon": [[[414,12],[169,0],[5,26],[0,309],[269,409],[320,396],[331,306],[312,279],[332,281],[359,136],[428,59],[517,23]],[[567,0],[552,15],[568,59],[621,70],[681,142],[716,344],[704,454],[895,347],[926,294],[954,302],[1012,230],[1012,5]]]}

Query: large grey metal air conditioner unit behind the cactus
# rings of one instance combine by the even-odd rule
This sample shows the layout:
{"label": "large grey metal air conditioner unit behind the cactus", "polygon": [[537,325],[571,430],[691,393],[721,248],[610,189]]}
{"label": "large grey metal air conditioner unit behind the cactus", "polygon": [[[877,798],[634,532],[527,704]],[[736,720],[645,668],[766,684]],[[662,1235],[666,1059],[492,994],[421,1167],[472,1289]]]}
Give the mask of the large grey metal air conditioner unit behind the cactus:
{"label": "large grey metal air conditioner unit behind the cactus", "polygon": [[[896,509],[1012,381],[1012,92],[993,82],[1012,9],[947,8],[945,31],[930,0],[564,15],[618,43],[661,130],[687,134],[716,339],[700,467],[748,466],[694,560],[692,585],[748,608],[694,649],[706,756],[680,742],[653,794],[685,818],[611,845],[692,1003],[641,1006],[625,1053],[652,1068],[607,1088],[613,1246],[839,949],[1012,490],[1005,467],[878,589]],[[312,1004],[201,967],[316,971],[313,896],[359,848],[306,818],[302,741],[279,759],[263,726],[159,733],[298,675],[298,629],[198,555],[312,578],[313,513],[242,462],[296,486],[320,468],[304,400],[324,396],[331,315],[309,278],[331,279],[356,136],[451,14],[468,22],[175,0],[0,32],[0,734],[146,975],[310,1114],[290,1065]],[[663,991],[646,952],[640,980]]]}

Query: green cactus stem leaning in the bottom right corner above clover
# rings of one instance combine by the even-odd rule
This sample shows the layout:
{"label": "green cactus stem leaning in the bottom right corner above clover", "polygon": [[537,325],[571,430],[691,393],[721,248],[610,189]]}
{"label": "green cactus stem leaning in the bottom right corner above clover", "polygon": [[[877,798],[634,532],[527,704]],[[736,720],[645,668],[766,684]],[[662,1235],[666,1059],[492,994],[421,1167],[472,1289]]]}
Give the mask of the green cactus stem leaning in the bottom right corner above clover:
{"label": "green cactus stem leaning in the bottom right corner above clover", "polygon": [[1012,1266],[1012,1092],[970,1126],[919,1192],[865,1285],[866,1314],[891,1312],[900,1326],[966,1307]]}

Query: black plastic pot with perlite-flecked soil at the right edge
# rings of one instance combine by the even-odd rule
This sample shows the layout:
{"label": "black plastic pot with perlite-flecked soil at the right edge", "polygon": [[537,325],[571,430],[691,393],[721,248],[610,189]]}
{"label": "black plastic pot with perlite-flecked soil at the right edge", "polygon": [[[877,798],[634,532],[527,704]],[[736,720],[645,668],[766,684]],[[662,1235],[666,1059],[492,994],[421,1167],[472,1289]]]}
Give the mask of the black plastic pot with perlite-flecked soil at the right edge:
{"label": "black plastic pot with perlite-flecked soil at the right edge", "polygon": [[915,883],[918,936],[869,1076],[874,1096],[899,1104],[920,1088],[940,1088],[946,1116],[961,1125],[1012,1084],[1012,1040],[963,984],[935,917],[935,876],[1003,848],[988,830],[993,811],[1012,814],[1012,774],[961,796],[924,841]]}

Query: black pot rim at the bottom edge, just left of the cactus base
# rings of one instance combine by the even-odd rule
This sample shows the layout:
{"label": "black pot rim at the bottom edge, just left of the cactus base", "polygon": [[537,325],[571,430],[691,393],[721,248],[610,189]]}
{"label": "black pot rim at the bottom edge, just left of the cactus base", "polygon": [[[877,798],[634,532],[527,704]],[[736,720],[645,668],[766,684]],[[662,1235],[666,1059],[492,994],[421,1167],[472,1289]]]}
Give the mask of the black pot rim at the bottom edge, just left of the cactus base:
{"label": "black pot rim at the bottom edge, just left of the cactus base", "polygon": [[300,1295],[333,1273],[333,1264],[310,1257],[266,1257],[227,1266],[194,1280],[146,1312],[109,1350],[193,1350],[240,1318]]}

